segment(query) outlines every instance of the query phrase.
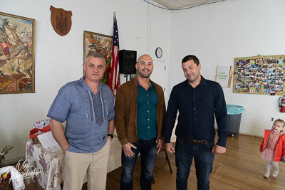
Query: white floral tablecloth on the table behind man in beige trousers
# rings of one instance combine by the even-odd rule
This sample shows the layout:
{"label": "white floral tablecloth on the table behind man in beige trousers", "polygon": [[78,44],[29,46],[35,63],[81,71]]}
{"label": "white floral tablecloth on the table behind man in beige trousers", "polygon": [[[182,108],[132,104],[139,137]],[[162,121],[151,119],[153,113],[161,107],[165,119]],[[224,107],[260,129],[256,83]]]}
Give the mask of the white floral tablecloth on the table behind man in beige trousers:
{"label": "white floral tablecloth on the table behind man in beige trousers", "polygon": [[[118,137],[114,137],[111,142],[110,155],[107,171],[113,171],[121,166],[122,146],[118,141]],[[26,179],[26,184],[34,181],[43,189],[58,189],[63,181],[63,152],[50,152],[44,149],[41,144],[35,144],[31,139],[26,143],[26,162],[31,166],[29,171],[41,171],[33,179]],[[87,181],[85,177],[84,182]]]}

